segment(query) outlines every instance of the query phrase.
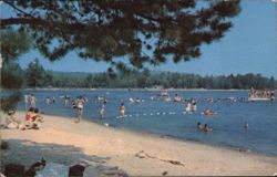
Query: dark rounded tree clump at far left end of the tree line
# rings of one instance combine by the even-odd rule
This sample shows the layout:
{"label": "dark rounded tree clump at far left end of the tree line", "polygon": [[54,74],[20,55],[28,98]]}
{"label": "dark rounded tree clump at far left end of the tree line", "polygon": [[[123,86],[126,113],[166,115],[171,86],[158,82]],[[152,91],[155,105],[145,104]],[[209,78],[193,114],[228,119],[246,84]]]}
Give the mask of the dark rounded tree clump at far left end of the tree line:
{"label": "dark rounded tree clump at far left end of the tree line", "polygon": [[20,88],[23,83],[23,71],[16,61],[4,62],[1,70],[1,87]]}

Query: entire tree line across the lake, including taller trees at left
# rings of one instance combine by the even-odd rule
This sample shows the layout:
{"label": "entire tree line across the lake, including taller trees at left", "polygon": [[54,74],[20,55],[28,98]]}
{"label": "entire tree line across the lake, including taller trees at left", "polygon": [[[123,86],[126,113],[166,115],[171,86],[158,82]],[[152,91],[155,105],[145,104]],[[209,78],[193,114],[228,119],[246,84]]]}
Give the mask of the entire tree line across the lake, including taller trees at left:
{"label": "entire tree line across the lake, including taller trees at left", "polygon": [[155,87],[162,85],[165,88],[238,88],[264,90],[277,88],[277,81],[265,77],[260,74],[237,74],[219,76],[201,76],[197,74],[175,73],[175,72],[151,72],[148,69],[142,71],[131,70],[117,73],[62,73],[47,71],[39,60],[30,62],[25,70],[22,70],[17,62],[9,62],[1,71],[1,87]]}

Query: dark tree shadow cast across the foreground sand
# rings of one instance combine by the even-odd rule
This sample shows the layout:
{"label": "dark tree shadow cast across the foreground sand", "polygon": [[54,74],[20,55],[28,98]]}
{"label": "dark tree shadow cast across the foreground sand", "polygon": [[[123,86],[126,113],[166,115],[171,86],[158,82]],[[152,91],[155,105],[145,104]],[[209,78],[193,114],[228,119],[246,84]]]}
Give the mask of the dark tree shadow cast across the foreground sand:
{"label": "dark tree shadow cast across the foreground sand", "polygon": [[24,169],[44,158],[47,163],[58,163],[65,166],[83,162],[89,165],[85,174],[89,175],[117,175],[127,176],[119,167],[109,167],[104,164],[111,157],[100,157],[95,155],[85,155],[82,148],[72,145],[59,145],[49,143],[35,143],[23,139],[8,139],[8,149],[1,149],[1,171],[7,164],[20,164]]}

